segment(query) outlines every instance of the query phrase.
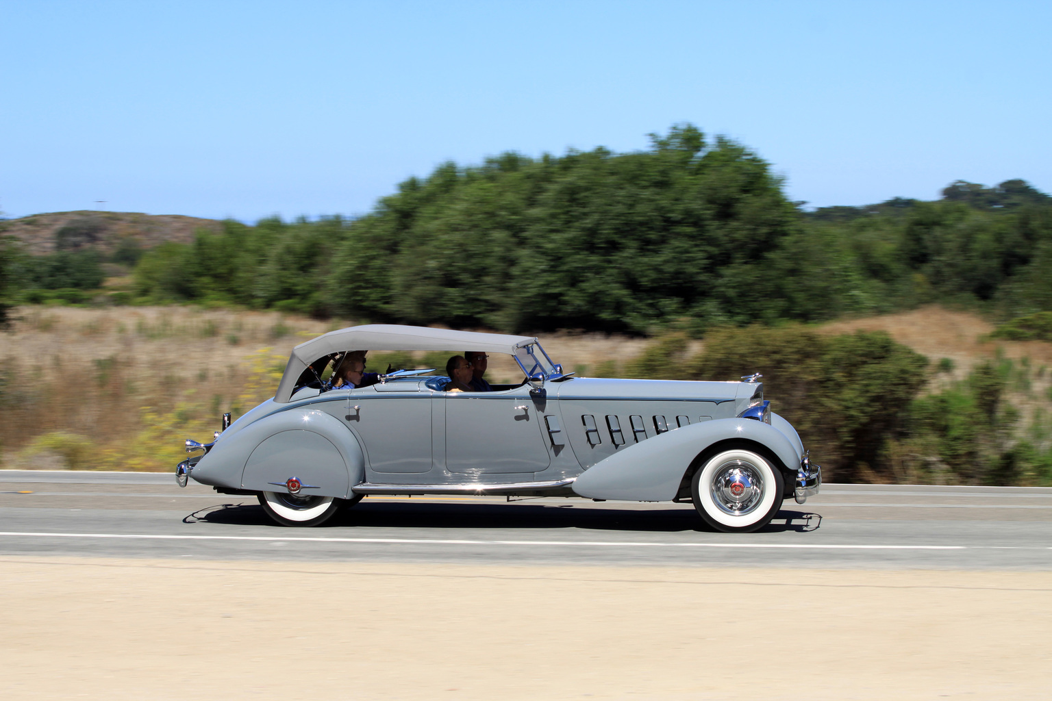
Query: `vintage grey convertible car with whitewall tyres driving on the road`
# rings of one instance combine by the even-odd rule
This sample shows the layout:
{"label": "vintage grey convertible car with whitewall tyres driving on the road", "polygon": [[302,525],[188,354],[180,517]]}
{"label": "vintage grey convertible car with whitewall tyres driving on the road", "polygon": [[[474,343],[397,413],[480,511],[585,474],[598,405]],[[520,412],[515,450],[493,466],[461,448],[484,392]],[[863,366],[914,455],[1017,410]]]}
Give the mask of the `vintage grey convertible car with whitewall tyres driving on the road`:
{"label": "vintage grey convertible car with whitewall tyres driving on the road", "polygon": [[[507,353],[524,379],[457,392],[429,370],[398,370],[326,390],[329,362],[361,350]],[[370,494],[470,494],[692,502],[720,531],[754,531],[822,482],[758,378],[574,377],[533,337],[356,326],[297,346],[274,398],[224,415],[210,444],[187,440],[197,454],[177,478],[255,494],[285,525]]]}

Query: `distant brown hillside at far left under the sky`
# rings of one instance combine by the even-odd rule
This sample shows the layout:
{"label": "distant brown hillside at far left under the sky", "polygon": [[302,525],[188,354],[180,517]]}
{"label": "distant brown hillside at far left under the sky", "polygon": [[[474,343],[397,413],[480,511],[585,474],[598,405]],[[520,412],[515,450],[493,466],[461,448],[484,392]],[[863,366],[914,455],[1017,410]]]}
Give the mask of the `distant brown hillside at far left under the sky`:
{"label": "distant brown hillside at far left under the sky", "polygon": [[122,243],[144,249],[165,241],[188,244],[198,229],[219,231],[221,226],[216,220],[180,214],[80,210],[0,222],[0,233],[15,236],[33,255],[83,248],[112,254]]}

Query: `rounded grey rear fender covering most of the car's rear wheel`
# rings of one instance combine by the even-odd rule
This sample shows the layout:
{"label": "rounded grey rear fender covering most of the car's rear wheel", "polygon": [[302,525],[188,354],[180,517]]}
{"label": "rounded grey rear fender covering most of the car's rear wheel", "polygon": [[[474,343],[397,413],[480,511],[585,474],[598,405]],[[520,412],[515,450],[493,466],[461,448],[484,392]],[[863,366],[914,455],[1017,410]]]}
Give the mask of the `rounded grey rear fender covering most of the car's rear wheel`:
{"label": "rounded grey rear fender covering most of the car's rear wheel", "polygon": [[365,478],[365,455],[339,419],[302,407],[222,436],[190,476],[203,484],[257,492],[281,491],[270,482],[297,477],[318,488],[304,495],[350,498],[351,488]]}

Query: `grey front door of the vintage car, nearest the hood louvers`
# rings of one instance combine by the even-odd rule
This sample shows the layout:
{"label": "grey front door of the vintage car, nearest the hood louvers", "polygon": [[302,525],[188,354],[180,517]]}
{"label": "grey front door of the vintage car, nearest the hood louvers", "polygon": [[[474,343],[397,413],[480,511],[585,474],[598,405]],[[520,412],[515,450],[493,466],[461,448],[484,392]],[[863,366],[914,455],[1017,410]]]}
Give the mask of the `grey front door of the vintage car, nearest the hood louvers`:
{"label": "grey front door of the vintage car, nearest the hood louvers", "polygon": [[[446,470],[459,475],[505,478],[548,468],[545,405],[529,386],[497,392],[444,392]],[[528,474],[527,474],[528,473]]]}

